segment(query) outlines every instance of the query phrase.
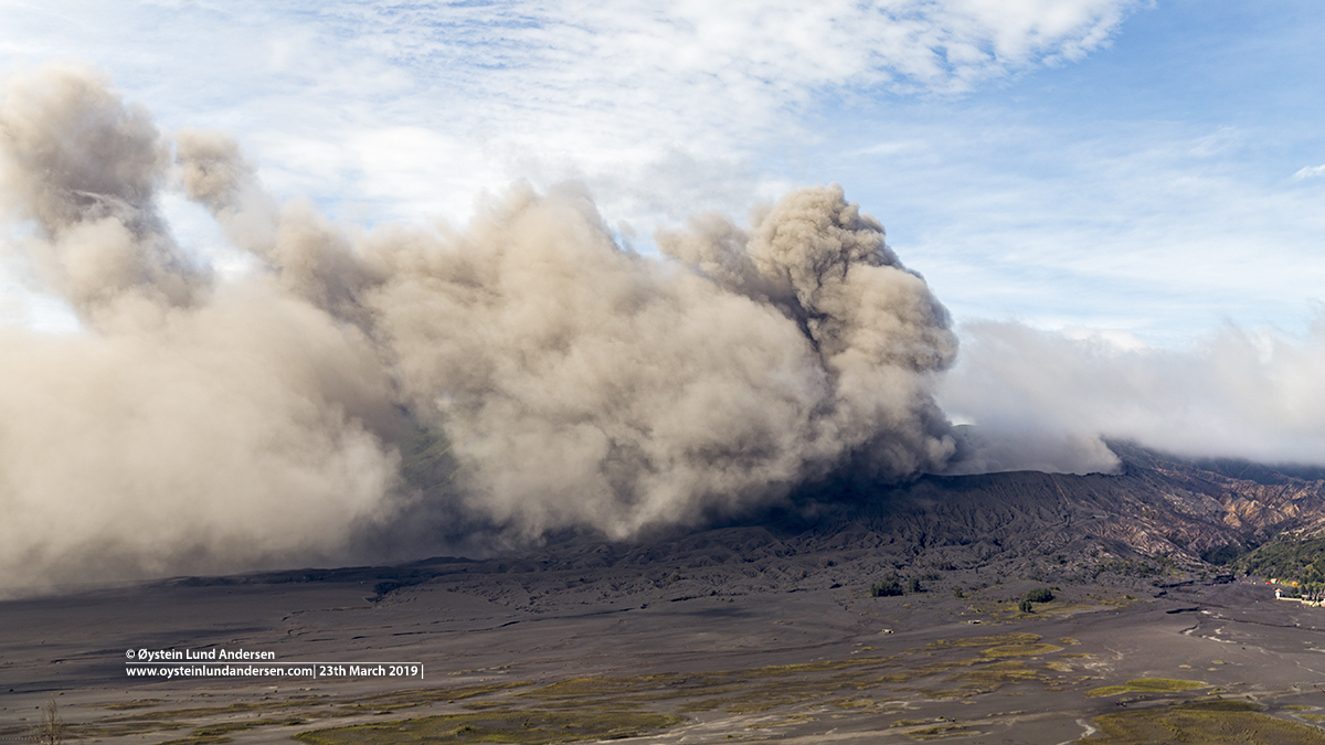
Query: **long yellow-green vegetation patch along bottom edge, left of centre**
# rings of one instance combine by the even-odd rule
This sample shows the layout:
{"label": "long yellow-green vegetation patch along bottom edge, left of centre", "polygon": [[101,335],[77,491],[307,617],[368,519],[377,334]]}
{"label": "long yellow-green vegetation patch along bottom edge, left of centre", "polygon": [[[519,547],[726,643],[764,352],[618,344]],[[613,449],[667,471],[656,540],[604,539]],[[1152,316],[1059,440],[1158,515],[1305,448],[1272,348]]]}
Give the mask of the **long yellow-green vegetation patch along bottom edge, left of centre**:
{"label": "long yellow-green vegetation patch along bottom edge, left of centre", "polygon": [[572,742],[636,737],[684,721],[643,712],[486,712],[337,726],[302,732],[310,745],[407,745],[423,742]]}

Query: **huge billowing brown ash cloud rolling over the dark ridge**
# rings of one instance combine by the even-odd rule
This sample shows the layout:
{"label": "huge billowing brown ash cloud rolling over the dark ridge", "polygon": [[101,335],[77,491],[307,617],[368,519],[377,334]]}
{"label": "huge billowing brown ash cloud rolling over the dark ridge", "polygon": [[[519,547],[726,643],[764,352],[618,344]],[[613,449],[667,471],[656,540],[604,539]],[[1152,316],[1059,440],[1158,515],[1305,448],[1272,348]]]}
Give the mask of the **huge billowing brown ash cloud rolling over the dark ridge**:
{"label": "huge billowing brown ash cloud rolling over the dark ridge", "polygon": [[[85,330],[0,331],[0,586],[628,537],[954,451],[947,315],[839,188],[698,216],[660,260],[575,187],[351,236],[254,174],[94,73],[8,81],[7,253]],[[166,188],[264,269],[199,265]]]}

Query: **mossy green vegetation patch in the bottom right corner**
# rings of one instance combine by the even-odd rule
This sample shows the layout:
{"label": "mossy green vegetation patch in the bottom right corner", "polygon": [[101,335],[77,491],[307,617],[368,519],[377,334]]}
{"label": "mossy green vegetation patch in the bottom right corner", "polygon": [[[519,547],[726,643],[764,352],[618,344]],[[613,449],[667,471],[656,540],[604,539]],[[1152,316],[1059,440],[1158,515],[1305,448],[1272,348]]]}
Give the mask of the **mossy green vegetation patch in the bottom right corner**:
{"label": "mossy green vegetation patch in the bottom right corner", "polygon": [[1325,745],[1325,733],[1260,713],[1248,701],[1202,701],[1094,718],[1100,734],[1083,745],[1202,742],[1208,745]]}

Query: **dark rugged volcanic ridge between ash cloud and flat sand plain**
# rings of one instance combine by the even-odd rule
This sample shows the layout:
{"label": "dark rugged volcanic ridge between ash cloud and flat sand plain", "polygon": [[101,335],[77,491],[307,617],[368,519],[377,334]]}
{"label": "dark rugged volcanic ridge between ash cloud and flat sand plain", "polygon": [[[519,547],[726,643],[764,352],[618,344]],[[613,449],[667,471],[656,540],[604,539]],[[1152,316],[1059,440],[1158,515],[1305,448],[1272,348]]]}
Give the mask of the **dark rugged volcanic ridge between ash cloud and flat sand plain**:
{"label": "dark rugged volcanic ridge between ash cloud and flat sand plain", "polygon": [[[628,598],[684,601],[865,586],[889,575],[945,591],[1045,583],[1133,586],[1218,575],[1276,534],[1325,521],[1325,481],[1257,465],[1220,471],[1110,444],[1116,475],[925,476],[820,487],[794,506],[689,533],[608,542],[562,534],[488,559],[178,578],[180,585],[359,582],[374,602],[431,583],[538,611]],[[1236,469],[1255,477],[1228,475]],[[1159,579],[1166,575],[1167,579]]]}

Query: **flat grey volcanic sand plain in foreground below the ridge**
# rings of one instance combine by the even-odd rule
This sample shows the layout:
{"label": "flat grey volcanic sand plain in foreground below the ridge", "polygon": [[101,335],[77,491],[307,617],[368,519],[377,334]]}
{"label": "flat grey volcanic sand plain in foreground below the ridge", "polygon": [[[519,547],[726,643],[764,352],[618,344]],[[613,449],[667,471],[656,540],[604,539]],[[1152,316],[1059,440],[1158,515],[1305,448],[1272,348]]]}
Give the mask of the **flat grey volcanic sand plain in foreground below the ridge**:
{"label": "flat grey volcanic sand plain in foreground below the ridge", "polygon": [[[831,566],[791,591],[742,586],[737,571],[702,593],[680,571],[640,583],[620,566],[586,577],[496,561],[411,567],[387,583],[371,569],[276,573],[0,603],[0,737],[26,736],[52,696],[81,741],[197,745],[484,712],[676,717],[641,729],[627,716],[615,730],[659,744],[1059,744],[1090,734],[1100,715],[1177,701],[1246,699],[1298,722],[1325,707],[1325,608],[1276,601],[1264,585],[1060,583],[1057,599],[1024,614],[1016,601],[1037,583],[978,586],[963,571],[872,598],[867,583],[828,582]],[[217,647],[419,661],[425,675],[125,672],[127,650]],[[1192,687],[1098,691],[1143,677]],[[462,730],[436,741],[466,741]]]}

